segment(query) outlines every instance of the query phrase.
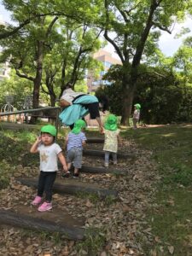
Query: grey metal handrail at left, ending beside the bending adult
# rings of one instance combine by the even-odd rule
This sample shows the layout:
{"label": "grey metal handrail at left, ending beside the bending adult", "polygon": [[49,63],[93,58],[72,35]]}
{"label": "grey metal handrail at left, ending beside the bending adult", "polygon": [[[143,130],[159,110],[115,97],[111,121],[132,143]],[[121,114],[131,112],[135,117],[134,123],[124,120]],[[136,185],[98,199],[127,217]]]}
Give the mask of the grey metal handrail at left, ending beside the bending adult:
{"label": "grey metal handrail at left, ending beside the bending adult", "polygon": [[26,110],[20,110],[20,111],[13,111],[13,112],[3,112],[0,113],[0,117],[1,116],[9,116],[9,115],[13,115],[13,114],[20,114],[20,113],[34,113],[34,112],[40,112],[44,110],[55,110],[55,127],[56,130],[58,131],[58,126],[59,126],[59,113],[61,108],[60,107],[48,107],[48,108],[34,108],[34,109],[26,109]]}

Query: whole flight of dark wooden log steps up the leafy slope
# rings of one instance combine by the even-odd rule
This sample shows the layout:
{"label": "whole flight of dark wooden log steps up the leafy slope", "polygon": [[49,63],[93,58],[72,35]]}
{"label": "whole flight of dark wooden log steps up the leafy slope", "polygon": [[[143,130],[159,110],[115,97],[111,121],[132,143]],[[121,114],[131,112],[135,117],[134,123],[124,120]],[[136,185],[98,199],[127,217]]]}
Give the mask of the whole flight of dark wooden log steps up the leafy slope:
{"label": "whole flight of dark wooden log steps up the leafy slope", "polygon": [[[88,143],[103,143],[102,138],[91,137]],[[94,159],[103,157],[102,150],[84,150],[84,155],[90,155]],[[119,158],[127,159],[133,157],[129,154],[118,154]],[[103,168],[102,166],[82,166],[81,172],[94,174],[119,174],[126,175],[127,172],[111,168]],[[36,188],[38,179],[34,177],[20,177],[17,182],[27,187]],[[55,181],[54,192],[59,195],[73,195],[74,200],[77,200],[79,193],[93,194],[103,200],[106,197],[112,196],[118,199],[118,192],[115,189],[107,189],[100,187],[97,183],[86,183],[77,179],[63,179],[58,177]],[[24,229],[58,232],[69,240],[84,240],[84,218],[73,218],[67,211],[61,210],[59,207],[53,207],[49,212],[38,212],[37,208],[18,204],[14,209],[0,208],[1,224],[11,225]]]}

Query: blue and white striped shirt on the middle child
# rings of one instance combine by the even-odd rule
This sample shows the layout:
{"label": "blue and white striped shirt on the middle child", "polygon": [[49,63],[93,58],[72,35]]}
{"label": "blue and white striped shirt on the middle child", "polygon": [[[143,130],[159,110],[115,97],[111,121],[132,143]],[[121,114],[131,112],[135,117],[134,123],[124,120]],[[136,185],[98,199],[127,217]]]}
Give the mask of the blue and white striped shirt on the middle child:
{"label": "blue and white striped shirt on the middle child", "polygon": [[79,134],[74,134],[69,132],[67,136],[67,151],[71,148],[83,148],[82,143],[87,140],[84,135],[84,132],[80,131]]}

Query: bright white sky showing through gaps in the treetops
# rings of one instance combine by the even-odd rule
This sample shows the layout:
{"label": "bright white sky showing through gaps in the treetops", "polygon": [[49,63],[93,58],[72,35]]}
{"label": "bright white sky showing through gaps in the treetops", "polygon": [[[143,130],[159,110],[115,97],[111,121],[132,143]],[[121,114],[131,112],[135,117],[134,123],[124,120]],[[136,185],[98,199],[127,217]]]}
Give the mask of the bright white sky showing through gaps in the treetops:
{"label": "bright white sky showing through gaps in the treetops", "polygon": [[[1,21],[11,22],[11,19],[10,19],[10,13],[6,9],[4,9],[2,1],[0,0],[0,22]],[[177,38],[177,39],[174,38],[175,35],[180,32],[182,26],[189,27],[191,32],[189,32],[182,38]],[[172,56],[177,51],[179,46],[182,44],[183,38],[189,37],[189,36],[192,36],[192,18],[186,19],[183,24],[176,24],[174,26],[174,30],[172,31],[172,34],[169,34],[167,32],[162,32],[162,35],[160,36],[160,41],[159,41],[160,49],[166,56]],[[112,45],[108,44],[108,46],[106,46],[104,49],[110,51],[115,56]]]}

